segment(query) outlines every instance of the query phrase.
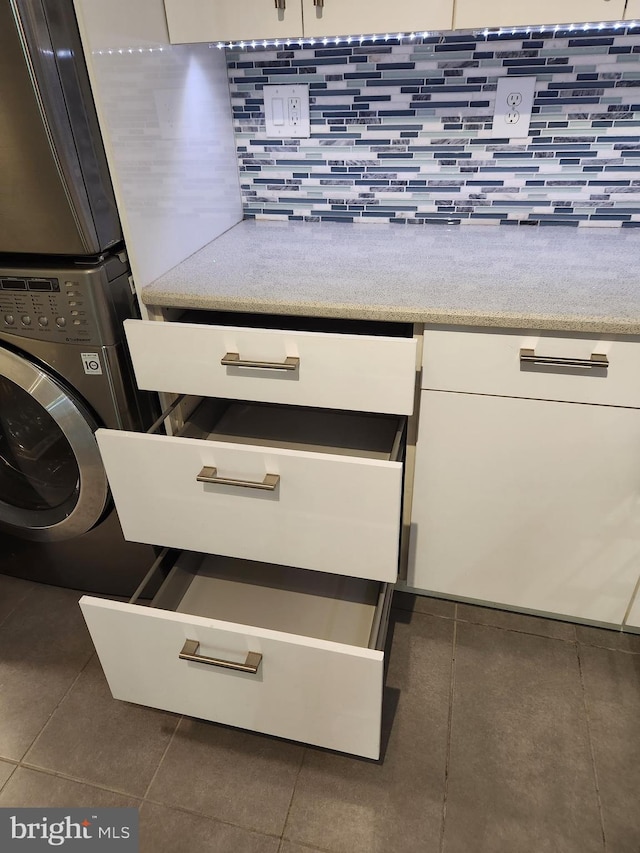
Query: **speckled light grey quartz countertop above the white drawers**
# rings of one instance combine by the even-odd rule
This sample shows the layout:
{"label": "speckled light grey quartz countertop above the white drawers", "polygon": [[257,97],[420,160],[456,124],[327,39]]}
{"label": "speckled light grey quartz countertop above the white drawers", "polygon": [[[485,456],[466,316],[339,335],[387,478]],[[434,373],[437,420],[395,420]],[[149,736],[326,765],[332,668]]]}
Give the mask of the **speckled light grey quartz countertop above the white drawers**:
{"label": "speckled light grey quartz countertop above the white drawers", "polygon": [[640,334],[640,229],[256,222],[147,305]]}

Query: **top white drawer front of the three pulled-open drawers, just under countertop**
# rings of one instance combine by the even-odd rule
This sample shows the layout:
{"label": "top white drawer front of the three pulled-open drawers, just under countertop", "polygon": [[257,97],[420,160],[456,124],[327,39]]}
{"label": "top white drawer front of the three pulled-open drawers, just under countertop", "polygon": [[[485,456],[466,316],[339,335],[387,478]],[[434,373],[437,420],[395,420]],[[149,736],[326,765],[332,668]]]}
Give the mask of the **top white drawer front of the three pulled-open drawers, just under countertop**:
{"label": "top white drawer front of the three pulled-open drawers, just under countertop", "polygon": [[[413,338],[145,320],[124,325],[138,387],[148,391],[413,412]],[[249,366],[222,364],[228,354]]]}

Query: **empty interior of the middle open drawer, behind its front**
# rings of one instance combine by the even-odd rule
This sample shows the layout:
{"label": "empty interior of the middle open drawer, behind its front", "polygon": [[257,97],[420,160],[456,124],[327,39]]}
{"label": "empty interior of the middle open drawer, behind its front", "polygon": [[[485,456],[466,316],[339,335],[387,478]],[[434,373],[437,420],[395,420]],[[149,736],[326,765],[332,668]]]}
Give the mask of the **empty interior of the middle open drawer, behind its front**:
{"label": "empty interior of the middle open drawer, behind its front", "polygon": [[405,418],[393,415],[206,399],[179,435],[396,461],[404,425]]}

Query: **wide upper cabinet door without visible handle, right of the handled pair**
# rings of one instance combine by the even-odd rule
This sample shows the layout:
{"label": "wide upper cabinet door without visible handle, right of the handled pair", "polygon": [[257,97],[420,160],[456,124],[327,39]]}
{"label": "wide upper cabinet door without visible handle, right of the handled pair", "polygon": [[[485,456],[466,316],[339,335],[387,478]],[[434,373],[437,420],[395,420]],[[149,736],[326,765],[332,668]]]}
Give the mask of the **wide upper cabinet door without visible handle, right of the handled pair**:
{"label": "wide upper cabinet door without visible handle, right of the handled pair", "polygon": [[625,0],[456,0],[454,27],[464,30],[617,21],[624,15],[624,6]]}

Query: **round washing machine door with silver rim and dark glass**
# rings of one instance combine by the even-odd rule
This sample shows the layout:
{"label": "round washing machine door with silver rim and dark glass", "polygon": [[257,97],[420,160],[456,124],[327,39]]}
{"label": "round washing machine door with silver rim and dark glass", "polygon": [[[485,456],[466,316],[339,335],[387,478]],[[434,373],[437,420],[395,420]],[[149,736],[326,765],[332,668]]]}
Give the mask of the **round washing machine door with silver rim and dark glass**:
{"label": "round washing machine door with silver rim and dark glass", "polygon": [[96,427],[52,374],[0,348],[0,528],[51,542],[96,524],[109,500]]}

